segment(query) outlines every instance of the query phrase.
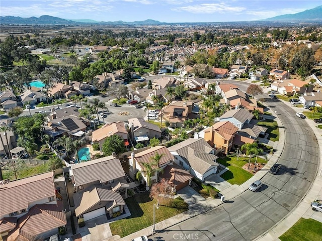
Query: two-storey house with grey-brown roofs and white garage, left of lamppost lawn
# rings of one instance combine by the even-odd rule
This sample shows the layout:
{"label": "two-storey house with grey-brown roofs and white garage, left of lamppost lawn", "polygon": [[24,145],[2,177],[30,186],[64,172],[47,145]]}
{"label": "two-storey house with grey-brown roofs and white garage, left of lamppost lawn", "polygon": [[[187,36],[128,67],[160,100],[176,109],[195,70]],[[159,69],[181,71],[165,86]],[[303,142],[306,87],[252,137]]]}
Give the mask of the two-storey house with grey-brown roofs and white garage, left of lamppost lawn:
{"label": "two-storey house with grey-brown roofs and white garage, left of lamppost lawn", "polygon": [[127,182],[121,162],[113,156],[71,165],[75,215],[85,221],[101,215],[123,213]]}

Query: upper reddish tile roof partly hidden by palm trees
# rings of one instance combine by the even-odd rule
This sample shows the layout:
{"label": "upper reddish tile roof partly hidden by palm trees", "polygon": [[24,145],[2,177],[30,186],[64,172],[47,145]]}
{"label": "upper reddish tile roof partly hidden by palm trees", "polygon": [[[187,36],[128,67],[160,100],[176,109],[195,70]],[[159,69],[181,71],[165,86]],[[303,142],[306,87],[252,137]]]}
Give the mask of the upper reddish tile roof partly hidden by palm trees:
{"label": "upper reddish tile roof partly hidden by palm trees", "polygon": [[156,146],[156,147],[152,147],[151,149],[145,150],[143,152],[139,152],[135,154],[134,159],[142,168],[141,163],[152,162],[151,158],[153,158],[156,153],[158,153],[159,155],[163,155],[159,161],[159,167],[163,166],[165,163],[172,161],[174,159],[174,157],[169,152],[169,150],[164,146]]}

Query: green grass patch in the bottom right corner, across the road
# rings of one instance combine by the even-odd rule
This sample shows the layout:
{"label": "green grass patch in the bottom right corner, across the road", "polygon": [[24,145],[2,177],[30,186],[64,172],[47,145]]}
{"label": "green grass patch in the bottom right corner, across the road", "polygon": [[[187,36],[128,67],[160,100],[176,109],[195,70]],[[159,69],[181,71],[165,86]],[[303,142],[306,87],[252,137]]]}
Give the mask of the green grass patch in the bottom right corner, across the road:
{"label": "green grass patch in the bottom right corner, across the road", "polygon": [[301,217],[279,239],[282,241],[320,241],[322,240],[322,223]]}

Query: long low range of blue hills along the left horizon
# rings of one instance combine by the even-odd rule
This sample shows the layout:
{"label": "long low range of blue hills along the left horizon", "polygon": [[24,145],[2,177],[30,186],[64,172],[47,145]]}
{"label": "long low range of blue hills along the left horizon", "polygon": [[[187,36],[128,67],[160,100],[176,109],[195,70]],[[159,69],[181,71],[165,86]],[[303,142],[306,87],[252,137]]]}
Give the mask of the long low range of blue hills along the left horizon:
{"label": "long low range of blue hills along the left horizon", "polygon": [[80,24],[101,24],[101,25],[153,25],[153,24],[163,24],[159,21],[155,20],[144,20],[144,21],[135,21],[135,22],[123,22],[123,21],[115,21],[115,22],[98,22],[91,19],[81,19],[81,20],[66,20],[60,19],[48,15],[40,16],[39,18],[31,17],[31,18],[21,18],[21,17],[13,17],[13,16],[0,16],[1,24],[27,24],[27,25],[35,25],[35,24],[46,24],[46,25],[80,25]]}

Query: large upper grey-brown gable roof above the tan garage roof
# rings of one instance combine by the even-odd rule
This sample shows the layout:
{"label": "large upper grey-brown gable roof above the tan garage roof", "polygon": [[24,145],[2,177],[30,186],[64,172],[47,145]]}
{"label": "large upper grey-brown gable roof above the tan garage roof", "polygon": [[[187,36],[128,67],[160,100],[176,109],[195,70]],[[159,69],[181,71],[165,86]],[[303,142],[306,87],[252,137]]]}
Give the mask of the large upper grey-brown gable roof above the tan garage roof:
{"label": "large upper grey-brown gable roof above the tan garage roof", "polygon": [[76,186],[99,180],[101,183],[125,176],[121,162],[113,156],[71,165]]}

